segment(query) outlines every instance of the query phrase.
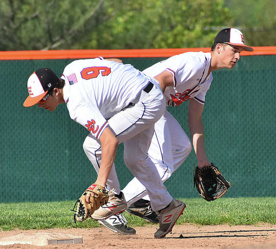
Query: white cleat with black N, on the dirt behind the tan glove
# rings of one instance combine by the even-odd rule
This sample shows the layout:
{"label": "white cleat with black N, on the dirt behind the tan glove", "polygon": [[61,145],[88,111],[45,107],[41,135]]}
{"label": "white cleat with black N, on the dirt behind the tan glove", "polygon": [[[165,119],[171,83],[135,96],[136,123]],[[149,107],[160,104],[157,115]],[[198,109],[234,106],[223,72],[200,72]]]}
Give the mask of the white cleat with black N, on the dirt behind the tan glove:
{"label": "white cleat with black N, on the dirt behind the tan glove", "polygon": [[133,235],[136,234],[134,228],[127,227],[127,219],[123,214],[115,214],[107,218],[106,220],[98,220],[100,224],[107,227],[113,232],[117,232],[119,234],[125,235]]}

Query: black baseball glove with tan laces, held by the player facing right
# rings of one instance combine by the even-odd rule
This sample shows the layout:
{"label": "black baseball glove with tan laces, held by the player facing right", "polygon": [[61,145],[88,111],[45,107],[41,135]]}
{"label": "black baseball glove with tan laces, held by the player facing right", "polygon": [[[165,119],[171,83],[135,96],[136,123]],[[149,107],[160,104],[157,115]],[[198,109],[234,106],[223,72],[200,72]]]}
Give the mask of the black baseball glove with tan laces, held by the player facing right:
{"label": "black baseball glove with tan laces, held by the player facing right", "polygon": [[206,166],[202,169],[199,169],[199,167],[195,168],[193,184],[193,187],[196,186],[199,195],[207,202],[223,196],[231,185],[213,163],[211,163],[211,166]]}

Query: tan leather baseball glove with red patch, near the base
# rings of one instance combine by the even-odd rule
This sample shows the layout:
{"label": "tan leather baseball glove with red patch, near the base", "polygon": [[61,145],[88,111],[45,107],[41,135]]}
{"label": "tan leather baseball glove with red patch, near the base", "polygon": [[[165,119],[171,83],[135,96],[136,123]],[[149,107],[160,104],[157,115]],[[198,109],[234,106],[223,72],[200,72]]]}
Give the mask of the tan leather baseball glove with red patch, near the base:
{"label": "tan leather baseball glove with red patch, near the base", "polygon": [[[88,192],[94,193],[93,196],[90,196],[89,201],[90,203],[86,202],[86,195]],[[74,221],[83,221],[86,220],[88,217],[91,218],[91,215],[98,209],[100,206],[106,204],[108,202],[109,193],[106,191],[105,187],[92,184],[88,187],[82,196],[76,201],[75,206],[71,211],[74,211]],[[77,207],[76,207],[77,205]],[[74,210],[76,207],[76,210]]]}

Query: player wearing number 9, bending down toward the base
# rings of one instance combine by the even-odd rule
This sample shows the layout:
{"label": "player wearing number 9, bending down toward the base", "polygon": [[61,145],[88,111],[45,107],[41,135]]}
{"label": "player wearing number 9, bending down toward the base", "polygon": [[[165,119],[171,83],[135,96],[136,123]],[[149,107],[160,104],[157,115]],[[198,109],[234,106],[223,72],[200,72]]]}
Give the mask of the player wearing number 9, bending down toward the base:
{"label": "player wearing number 9, bending down toward the base", "polygon": [[[124,142],[126,165],[145,186],[152,209],[162,221],[155,238],[170,232],[185,204],[168,193],[147,155],[154,123],[166,108],[158,82],[130,64],[99,57],[71,62],[60,78],[52,70],[40,68],[29,77],[27,85],[25,107],[38,104],[54,111],[57,105],[66,103],[70,118],[89,131],[83,147],[98,173],[93,185],[115,189],[105,205],[104,210],[110,212],[104,218],[127,208],[114,165],[117,146]],[[90,203],[93,192],[86,194],[86,202]]]}

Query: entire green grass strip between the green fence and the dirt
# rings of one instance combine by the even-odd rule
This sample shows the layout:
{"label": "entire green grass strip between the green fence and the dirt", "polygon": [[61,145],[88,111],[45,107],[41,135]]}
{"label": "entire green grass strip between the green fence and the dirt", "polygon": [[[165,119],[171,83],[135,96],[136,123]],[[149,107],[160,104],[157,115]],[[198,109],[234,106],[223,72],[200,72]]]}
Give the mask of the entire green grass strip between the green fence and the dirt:
{"label": "entire green grass strip between the green fence and the dirt", "polygon": [[[203,199],[181,199],[186,203],[184,215],[177,224],[252,225],[276,224],[276,198],[221,198],[214,202]],[[97,227],[92,219],[74,223],[74,201],[0,203],[0,229],[47,229]],[[143,219],[124,213],[129,226],[145,226]]]}

